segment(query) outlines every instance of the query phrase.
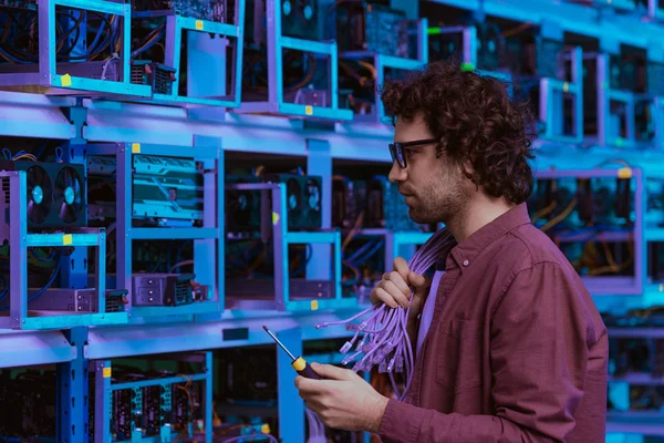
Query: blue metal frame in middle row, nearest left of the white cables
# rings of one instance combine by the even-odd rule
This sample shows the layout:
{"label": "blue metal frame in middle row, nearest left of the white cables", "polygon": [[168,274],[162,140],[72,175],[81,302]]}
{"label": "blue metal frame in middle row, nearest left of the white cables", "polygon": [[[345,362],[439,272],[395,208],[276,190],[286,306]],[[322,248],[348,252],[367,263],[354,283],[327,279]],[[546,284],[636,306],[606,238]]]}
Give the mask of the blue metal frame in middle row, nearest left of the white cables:
{"label": "blue metal frame in middle row, nearest left of the white cables", "polygon": [[[252,299],[231,299],[226,300],[226,307],[229,309],[267,309],[279,311],[318,311],[326,309],[349,309],[356,308],[357,301],[354,298],[342,298],[341,290],[341,233],[339,230],[329,231],[288,231],[288,209],[286,184],[227,184],[226,189],[238,190],[261,190],[262,198],[267,197],[266,190],[271,193],[272,207],[272,239],[274,244],[274,300],[260,301]],[[317,299],[312,297],[308,300],[291,300],[290,298],[290,272],[288,267],[288,245],[298,244],[328,244],[333,247],[332,261],[332,293],[333,298]]]}

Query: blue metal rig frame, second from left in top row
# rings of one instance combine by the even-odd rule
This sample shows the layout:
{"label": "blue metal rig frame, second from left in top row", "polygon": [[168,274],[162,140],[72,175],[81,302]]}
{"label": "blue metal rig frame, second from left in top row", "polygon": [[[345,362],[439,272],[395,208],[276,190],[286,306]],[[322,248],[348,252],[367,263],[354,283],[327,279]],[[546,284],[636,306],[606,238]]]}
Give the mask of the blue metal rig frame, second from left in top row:
{"label": "blue metal rig frame, second from left in top row", "polygon": [[[172,94],[157,94],[154,93],[152,101],[153,102],[164,102],[164,103],[183,103],[183,104],[193,104],[193,105],[208,105],[208,106],[225,106],[225,107],[238,107],[241,104],[242,97],[242,56],[245,50],[245,12],[246,12],[246,0],[237,0],[236,1],[236,11],[235,11],[235,24],[229,23],[218,23],[209,20],[199,20],[190,17],[183,17],[174,13],[173,11],[146,11],[146,12],[136,12],[134,13],[134,18],[136,19],[149,19],[155,17],[166,17],[166,58],[165,64],[176,69],[175,81],[173,82]],[[236,56],[235,60],[231,61],[231,65],[234,69],[232,72],[232,87],[234,91],[229,96],[227,96],[226,90],[226,79],[222,79],[220,82],[221,87],[224,89],[222,96],[218,99],[212,97],[200,97],[200,96],[183,96],[179,95],[178,86],[179,86],[179,73],[180,73],[180,59],[181,52],[185,51],[183,48],[183,32],[190,31],[197,33],[212,33],[217,35],[224,35],[225,38],[235,38],[236,41]],[[215,54],[218,58],[221,58],[227,62],[226,55],[222,53]],[[189,62],[191,64],[191,62]],[[205,75],[206,72],[200,72],[199,74]],[[188,74],[191,79],[194,74],[194,70],[188,70]],[[199,82],[210,85],[215,83],[219,83],[219,79],[207,78],[201,79],[200,76],[197,79]]]}

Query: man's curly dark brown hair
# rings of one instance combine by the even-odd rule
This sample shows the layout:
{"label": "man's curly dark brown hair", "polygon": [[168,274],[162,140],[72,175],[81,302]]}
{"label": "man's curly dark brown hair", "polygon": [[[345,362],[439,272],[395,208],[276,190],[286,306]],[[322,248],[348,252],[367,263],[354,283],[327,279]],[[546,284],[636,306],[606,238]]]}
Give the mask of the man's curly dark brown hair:
{"label": "man's curly dark brown hair", "polygon": [[[446,61],[386,83],[381,95],[392,124],[422,114],[439,141],[437,156],[445,152],[489,195],[520,204],[532,193],[528,159],[535,158],[535,135],[528,105],[511,101],[507,87],[496,78]],[[468,161],[474,174],[465,168]]]}

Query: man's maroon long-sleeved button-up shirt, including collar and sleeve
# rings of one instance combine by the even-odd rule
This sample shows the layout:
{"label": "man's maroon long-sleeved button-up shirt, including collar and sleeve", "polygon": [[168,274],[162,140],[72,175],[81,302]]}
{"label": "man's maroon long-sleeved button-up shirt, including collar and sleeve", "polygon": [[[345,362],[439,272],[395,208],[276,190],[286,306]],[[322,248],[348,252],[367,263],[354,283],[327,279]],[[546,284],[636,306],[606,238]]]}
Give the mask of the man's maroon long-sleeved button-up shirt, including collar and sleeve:
{"label": "man's maroon long-sleeved button-up shirt, including collar and sleeve", "polygon": [[603,442],[606,329],[526,205],[459,243],[445,269],[383,442]]}

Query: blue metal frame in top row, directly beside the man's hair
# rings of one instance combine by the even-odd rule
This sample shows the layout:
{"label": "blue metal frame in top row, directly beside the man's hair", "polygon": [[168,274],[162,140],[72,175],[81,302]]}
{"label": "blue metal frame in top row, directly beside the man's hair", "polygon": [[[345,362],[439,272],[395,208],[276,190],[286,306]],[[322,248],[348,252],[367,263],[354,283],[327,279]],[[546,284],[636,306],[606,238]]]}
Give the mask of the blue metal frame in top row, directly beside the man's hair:
{"label": "blue metal frame in top row, directly beside the man's hair", "polygon": [[[376,70],[376,84],[385,83],[385,70],[397,69],[404,71],[416,71],[428,63],[428,20],[417,19],[417,59],[406,59],[403,56],[393,56],[380,54],[370,51],[346,51],[340,54],[340,59],[361,60],[373,59],[373,65]],[[357,123],[385,123],[385,107],[381,100],[381,92],[376,87],[374,99],[374,112],[369,115],[355,115],[353,122]]]}

